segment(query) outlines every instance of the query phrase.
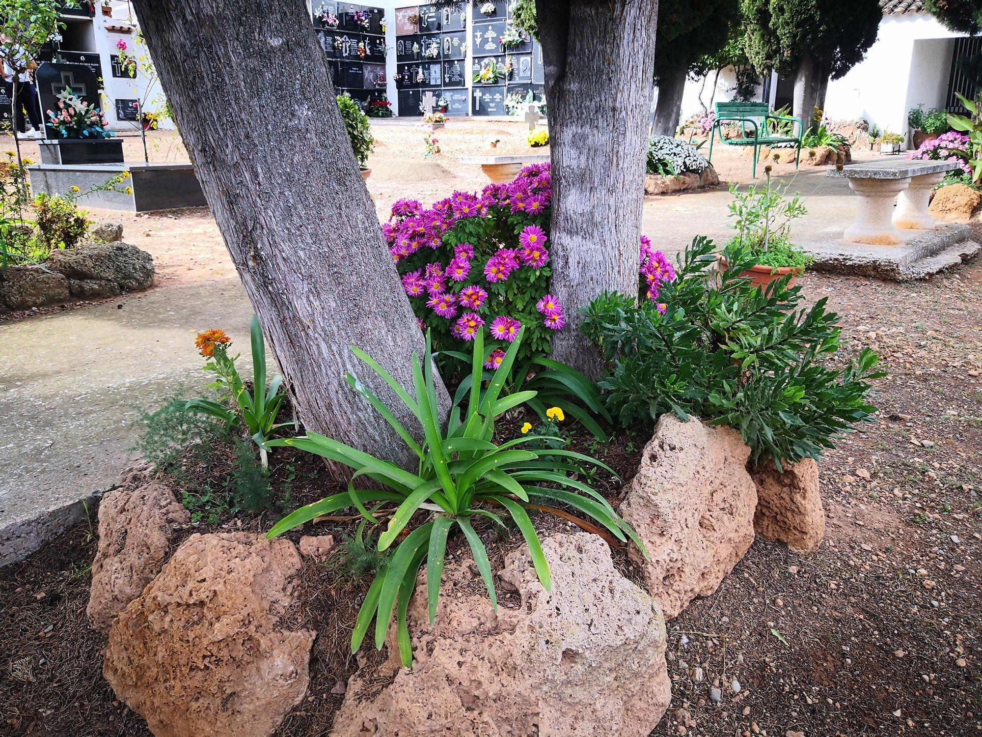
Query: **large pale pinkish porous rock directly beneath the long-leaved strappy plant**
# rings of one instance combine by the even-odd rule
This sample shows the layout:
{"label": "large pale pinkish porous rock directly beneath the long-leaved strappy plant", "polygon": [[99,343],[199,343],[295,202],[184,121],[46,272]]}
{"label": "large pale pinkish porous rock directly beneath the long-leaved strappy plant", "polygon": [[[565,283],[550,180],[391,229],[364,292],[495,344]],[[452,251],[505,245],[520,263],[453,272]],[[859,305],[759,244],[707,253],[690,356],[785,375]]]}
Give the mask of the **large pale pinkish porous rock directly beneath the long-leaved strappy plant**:
{"label": "large pale pinkish porous rock directly beneath the long-leaved strappy plant", "polygon": [[497,616],[464,560],[448,563],[430,625],[421,573],[412,668],[381,691],[356,673],[333,737],[646,737],[671,701],[658,605],[617,572],[602,539],[555,534],[542,547],[552,593],[521,548],[498,574]]}

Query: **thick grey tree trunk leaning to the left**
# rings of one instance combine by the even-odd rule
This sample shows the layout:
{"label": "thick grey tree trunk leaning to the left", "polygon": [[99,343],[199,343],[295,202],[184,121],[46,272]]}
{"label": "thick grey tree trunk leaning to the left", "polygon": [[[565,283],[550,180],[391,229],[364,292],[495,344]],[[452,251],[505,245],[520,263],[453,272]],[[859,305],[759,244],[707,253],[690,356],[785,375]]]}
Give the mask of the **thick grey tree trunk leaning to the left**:
{"label": "thick grey tree trunk leaning to the left", "polygon": [[[410,354],[425,347],[302,0],[135,4],[201,189],[303,425],[408,461],[405,444],[345,383],[351,371],[418,429],[351,352],[362,348],[411,387]],[[446,407],[442,383],[439,396]]]}

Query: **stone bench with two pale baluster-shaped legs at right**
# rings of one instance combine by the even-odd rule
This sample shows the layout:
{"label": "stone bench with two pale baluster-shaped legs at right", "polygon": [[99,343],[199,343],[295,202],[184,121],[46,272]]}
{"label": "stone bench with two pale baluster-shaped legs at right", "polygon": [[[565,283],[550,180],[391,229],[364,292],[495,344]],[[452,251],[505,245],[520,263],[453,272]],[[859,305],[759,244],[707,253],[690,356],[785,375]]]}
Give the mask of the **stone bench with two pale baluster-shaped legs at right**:
{"label": "stone bench with two pale baluster-shaped legs at right", "polygon": [[898,228],[933,230],[934,218],[927,209],[931,189],[959,166],[955,161],[894,159],[829,169],[828,176],[845,177],[849,189],[859,196],[856,219],[846,228],[843,239],[893,246],[904,240]]}

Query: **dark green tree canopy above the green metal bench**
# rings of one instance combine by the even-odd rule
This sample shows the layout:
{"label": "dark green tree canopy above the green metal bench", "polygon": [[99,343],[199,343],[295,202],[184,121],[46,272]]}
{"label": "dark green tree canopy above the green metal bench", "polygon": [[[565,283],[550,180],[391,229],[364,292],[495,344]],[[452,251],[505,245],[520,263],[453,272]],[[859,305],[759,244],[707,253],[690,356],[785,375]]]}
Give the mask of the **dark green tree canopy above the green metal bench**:
{"label": "dark green tree canopy above the green metal bench", "polygon": [[740,0],[747,57],[758,73],[791,75],[810,53],[833,80],[876,41],[878,0]]}

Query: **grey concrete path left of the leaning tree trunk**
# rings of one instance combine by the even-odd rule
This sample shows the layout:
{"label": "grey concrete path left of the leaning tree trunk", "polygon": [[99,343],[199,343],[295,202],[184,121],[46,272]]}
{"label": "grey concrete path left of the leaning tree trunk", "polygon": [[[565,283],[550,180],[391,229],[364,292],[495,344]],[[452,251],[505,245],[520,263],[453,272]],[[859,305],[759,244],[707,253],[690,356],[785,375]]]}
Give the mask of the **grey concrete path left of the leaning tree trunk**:
{"label": "grey concrete path left of the leaning tree trunk", "polygon": [[196,332],[222,327],[248,366],[251,315],[238,277],[225,276],[0,322],[0,565],[118,481],[140,409],[208,382]]}

